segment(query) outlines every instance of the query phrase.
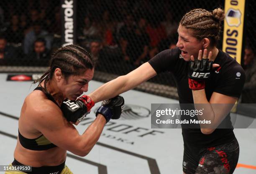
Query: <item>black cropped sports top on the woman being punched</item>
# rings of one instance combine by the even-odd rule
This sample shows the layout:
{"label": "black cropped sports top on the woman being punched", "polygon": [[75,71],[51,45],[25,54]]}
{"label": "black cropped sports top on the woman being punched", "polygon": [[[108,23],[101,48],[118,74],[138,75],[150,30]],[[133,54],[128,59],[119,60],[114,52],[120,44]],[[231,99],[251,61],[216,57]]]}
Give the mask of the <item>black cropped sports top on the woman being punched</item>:
{"label": "black cropped sports top on the woman being punched", "polygon": [[[49,93],[46,93],[43,87],[38,86],[34,90],[43,91],[49,100],[53,101],[57,106],[59,106],[58,103],[56,103],[56,101],[54,100],[53,96],[51,96],[51,94]],[[46,139],[43,134],[36,139],[27,139],[20,134],[20,131],[18,132],[20,144],[26,149],[43,151],[56,147],[56,145],[52,144],[48,139]]]}

